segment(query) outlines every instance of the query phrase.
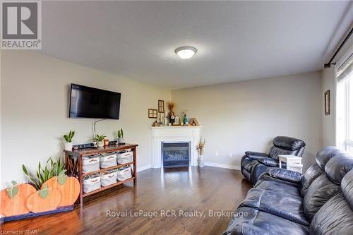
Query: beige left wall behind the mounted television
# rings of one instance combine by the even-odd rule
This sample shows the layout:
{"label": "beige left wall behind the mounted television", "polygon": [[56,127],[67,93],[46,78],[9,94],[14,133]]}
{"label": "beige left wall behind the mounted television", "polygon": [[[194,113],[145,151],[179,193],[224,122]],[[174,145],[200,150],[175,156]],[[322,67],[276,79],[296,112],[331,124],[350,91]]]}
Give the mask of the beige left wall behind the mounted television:
{"label": "beige left wall behind the mounted television", "polygon": [[113,138],[124,128],[127,143],[138,143],[138,169],[150,167],[152,143],[148,108],[170,100],[170,91],[78,66],[37,52],[1,52],[1,188],[25,181],[30,170],[49,157],[63,156],[62,135],[75,130],[73,141],[92,142],[92,119],[68,119],[70,83],[121,92],[120,120],[97,123],[97,133]]}

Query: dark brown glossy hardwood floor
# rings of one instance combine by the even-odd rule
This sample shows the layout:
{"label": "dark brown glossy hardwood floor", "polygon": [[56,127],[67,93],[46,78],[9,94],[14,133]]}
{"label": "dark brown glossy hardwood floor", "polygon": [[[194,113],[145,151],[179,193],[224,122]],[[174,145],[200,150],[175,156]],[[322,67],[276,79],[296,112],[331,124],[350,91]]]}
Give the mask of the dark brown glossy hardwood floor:
{"label": "dark brown glossy hardwood floor", "polygon": [[[1,234],[221,234],[230,217],[210,217],[208,211],[236,209],[249,188],[240,171],[231,169],[148,169],[139,173],[136,188],[126,183],[119,190],[85,198],[83,207],[76,206],[72,212],[7,222]],[[157,215],[131,217],[130,210]],[[176,215],[167,217],[173,210]],[[179,215],[179,211],[195,210],[204,212],[203,216]],[[109,217],[109,211],[111,216],[125,211],[128,215]]]}

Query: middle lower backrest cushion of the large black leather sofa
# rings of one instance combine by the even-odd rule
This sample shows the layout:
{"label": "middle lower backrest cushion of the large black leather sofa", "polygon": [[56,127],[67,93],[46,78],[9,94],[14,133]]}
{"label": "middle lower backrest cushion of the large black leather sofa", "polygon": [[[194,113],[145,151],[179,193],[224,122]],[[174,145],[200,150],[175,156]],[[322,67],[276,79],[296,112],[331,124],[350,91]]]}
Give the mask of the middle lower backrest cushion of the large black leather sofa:
{"label": "middle lower backrest cushion of the large black leather sofa", "polygon": [[304,196],[304,213],[311,220],[320,208],[341,191],[340,185],[330,181],[326,174],[318,176]]}

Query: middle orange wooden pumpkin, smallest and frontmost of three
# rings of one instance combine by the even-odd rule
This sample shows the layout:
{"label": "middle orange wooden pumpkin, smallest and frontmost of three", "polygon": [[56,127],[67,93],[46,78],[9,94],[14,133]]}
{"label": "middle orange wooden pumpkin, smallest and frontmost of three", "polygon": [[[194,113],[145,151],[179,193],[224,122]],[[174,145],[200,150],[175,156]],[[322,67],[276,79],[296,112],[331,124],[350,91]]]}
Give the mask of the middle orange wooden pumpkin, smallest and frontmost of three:
{"label": "middle orange wooden pumpkin, smallest and frontmost of three", "polygon": [[60,204],[61,193],[55,188],[48,188],[44,183],[44,188],[30,195],[26,205],[31,212],[46,212],[55,210]]}

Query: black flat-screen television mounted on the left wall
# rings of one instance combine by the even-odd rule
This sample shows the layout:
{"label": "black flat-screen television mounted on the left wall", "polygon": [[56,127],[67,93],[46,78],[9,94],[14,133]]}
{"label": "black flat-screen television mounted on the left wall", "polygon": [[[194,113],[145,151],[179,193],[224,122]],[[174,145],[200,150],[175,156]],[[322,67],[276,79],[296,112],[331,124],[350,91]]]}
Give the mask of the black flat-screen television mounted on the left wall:
{"label": "black flat-screen television mounted on the left wall", "polygon": [[71,84],[70,118],[119,119],[118,92]]}

